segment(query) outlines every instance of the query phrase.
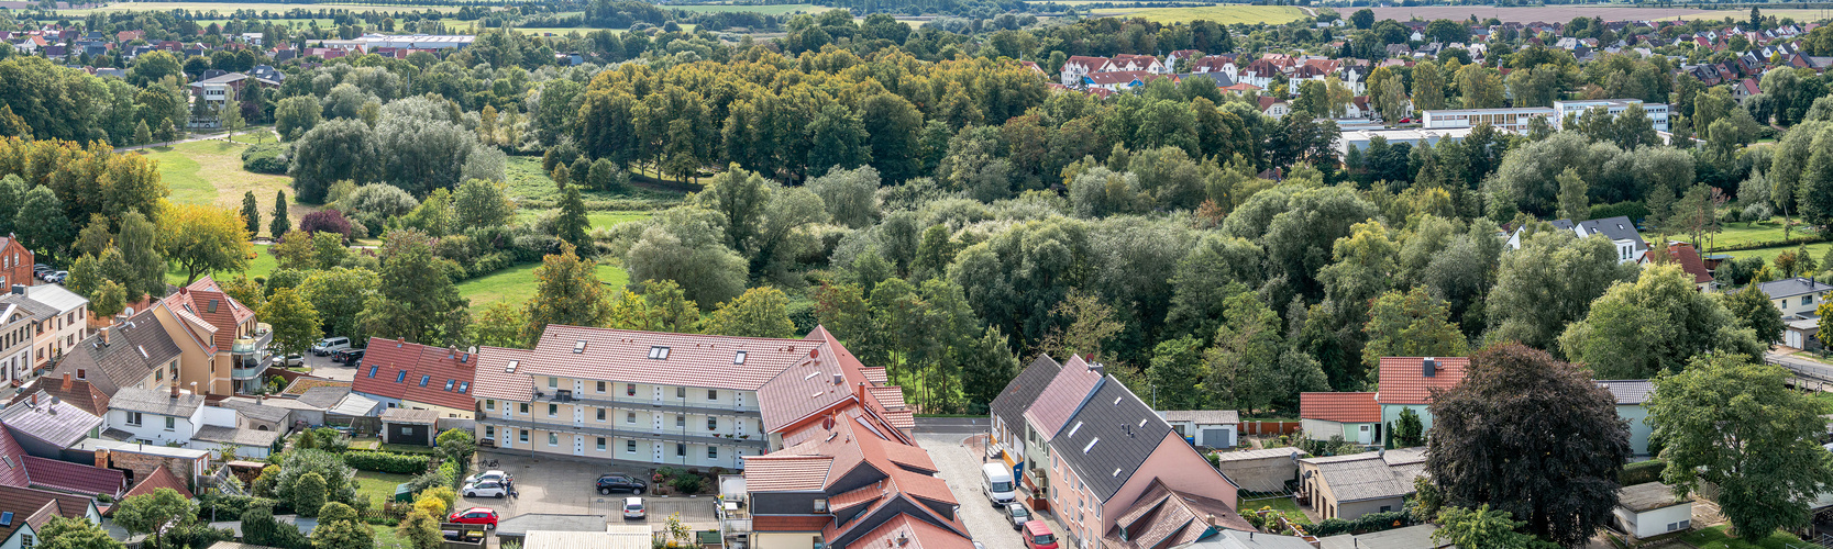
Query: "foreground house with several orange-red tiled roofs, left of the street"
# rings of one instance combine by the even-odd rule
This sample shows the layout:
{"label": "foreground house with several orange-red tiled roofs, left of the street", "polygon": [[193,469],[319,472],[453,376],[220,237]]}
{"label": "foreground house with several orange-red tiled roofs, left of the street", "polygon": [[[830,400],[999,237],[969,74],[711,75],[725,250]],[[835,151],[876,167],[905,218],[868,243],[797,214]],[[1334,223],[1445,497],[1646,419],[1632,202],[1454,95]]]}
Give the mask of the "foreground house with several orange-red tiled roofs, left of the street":
{"label": "foreground house with several orange-red tiled roofs, left of the street", "polygon": [[750,545],[764,549],[973,549],[960,503],[929,452],[860,415],[803,443],[744,458]]}

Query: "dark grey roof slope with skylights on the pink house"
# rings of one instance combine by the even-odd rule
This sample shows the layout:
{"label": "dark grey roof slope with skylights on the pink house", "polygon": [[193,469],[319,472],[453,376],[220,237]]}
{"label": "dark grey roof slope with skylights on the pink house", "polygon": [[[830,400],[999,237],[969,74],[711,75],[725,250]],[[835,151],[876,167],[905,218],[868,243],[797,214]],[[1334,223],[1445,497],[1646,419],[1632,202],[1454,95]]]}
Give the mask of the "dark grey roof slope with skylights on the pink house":
{"label": "dark grey roof slope with skylights on the pink house", "polygon": [[1169,423],[1107,375],[1081,408],[1069,415],[1050,447],[1096,498],[1107,501],[1169,432]]}

